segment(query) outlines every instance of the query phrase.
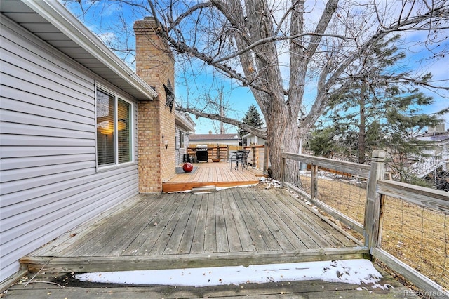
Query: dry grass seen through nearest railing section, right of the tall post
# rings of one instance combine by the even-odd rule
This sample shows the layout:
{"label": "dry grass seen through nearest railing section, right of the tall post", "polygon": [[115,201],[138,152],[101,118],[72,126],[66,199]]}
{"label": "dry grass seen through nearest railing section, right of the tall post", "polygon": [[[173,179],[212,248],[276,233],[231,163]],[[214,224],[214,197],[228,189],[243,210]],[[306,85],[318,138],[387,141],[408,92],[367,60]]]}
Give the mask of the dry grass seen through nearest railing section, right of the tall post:
{"label": "dry grass seen through nearest railing section, right of the tall post", "polygon": [[384,206],[381,248],[449,288],[448,215],[391,197]]}

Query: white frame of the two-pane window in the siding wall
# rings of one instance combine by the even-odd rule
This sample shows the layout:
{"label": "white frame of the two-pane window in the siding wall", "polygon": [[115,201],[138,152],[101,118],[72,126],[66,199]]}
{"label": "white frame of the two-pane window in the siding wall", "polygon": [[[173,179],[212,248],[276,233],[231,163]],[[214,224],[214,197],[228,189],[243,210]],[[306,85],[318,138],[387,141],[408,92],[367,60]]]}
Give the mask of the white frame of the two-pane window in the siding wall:
{"label": "white frame of the two-pane window in the siding wall", "polygon": [[[97,93],[98,91],[105,93],[109,95],[110,97],[114,98],[114,163],[113,164],[105,164],[105,165],[99,165],[98,164],[98,129],[97,129]],[[130,161],[119,163],[119,134],[118,134],[118,124],[119,124],[119,100],[122,100],[123,102],[126,102],[128,105],[130,105],[130,119],[129,119],[129,142],[130,142]],[[128,100],[126,97],[123,97],[119,93],[116,93],[112,91],[109,88],[106,88],[105,86],[102,86],[100,84],[95,84],[95,166],[97,171],[104,171],[109,168],[119,168],[123,166],[128,166],[130,164],[135,164],[135,103]]]}

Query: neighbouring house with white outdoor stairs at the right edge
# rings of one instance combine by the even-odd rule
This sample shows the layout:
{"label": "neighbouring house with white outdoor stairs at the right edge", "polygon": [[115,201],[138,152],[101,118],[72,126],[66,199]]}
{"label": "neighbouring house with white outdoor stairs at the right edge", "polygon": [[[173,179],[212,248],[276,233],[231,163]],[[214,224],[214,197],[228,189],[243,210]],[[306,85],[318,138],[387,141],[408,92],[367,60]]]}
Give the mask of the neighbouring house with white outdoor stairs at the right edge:
{"label": "neighbouring house with white outdoor stairs at the right edge", "polygon": [[445,124],[429,127],[426,133],[415,138],[428,143],[424,150],[428,157],[417,158],[418,161],[410,167],[410,171],[418,177],[424,177],[438,168],[446,171],[449,164],[449,132],[445,129]]}

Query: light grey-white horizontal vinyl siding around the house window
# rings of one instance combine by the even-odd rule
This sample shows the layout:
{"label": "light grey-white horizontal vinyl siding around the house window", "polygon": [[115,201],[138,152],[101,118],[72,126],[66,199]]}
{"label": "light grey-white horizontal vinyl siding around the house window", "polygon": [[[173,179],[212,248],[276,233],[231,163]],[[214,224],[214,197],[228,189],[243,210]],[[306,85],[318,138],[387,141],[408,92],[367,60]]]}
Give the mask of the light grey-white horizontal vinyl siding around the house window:
{"label": "light grey-white horizontal vinyl siding around the house window", "polygon": [[0,22],[3,281],[19,258],[136,194],[138,170],[126,163],[97,171],[95,84],[121,91],[4,15]]}

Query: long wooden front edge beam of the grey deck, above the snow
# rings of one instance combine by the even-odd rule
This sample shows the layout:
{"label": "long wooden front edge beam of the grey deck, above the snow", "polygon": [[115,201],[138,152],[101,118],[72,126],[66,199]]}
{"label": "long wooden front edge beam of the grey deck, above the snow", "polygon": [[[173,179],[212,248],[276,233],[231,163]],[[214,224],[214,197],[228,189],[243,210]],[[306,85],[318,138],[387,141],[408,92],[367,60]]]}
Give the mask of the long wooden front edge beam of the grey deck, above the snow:
{"label": "long wooden front edge beam of the grey deck, above the snow", "polygon": [[128,270],[184,269],[300,263],[321,260],[367,258],[368,248],[321,248],[297,251],[248,251],[239,253],[199,253],[173,255],[132,255],[109,257],[33,257],[20,259],[29,272],[107,272]]}

